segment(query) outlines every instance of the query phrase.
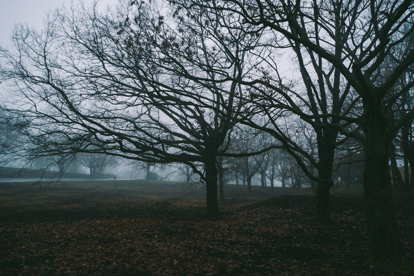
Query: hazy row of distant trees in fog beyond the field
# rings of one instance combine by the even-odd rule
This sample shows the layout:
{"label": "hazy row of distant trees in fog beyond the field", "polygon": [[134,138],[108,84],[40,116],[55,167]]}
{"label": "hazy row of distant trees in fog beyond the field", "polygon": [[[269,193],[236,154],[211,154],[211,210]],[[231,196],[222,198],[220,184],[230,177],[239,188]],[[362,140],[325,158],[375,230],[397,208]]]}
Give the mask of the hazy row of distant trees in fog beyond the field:
{"label": "hazy row of distant trees in fog beyond the field", "polygon": [[[0,125],[4,128],[7,127],[7,124],[4,122],[0,122]],[[4,131],[3,133],[13,133],[13,136],[18,138],[21,136],[19,133],[20,131],[21,130],[10,130]],[[305,132],[301,133],[301,131]],[[308,143],[310,148],[315,148],[315,133],[309,133],[306,129],[302,129],[301,131],[295,133],[297,136],[296,143],[299,143],[298,139],[303,139],[300,143]],[[237,131],[232,132],[231,146],[227,151],[238,153],[249,152],[252,150],[254,151],[254,149],[262,148],[266,143],[269,143],[269,139],[272,139],[272,136],[265,132],[252,132],[250,128],[246,128],[244,130],[238,129]],[[17,157],[19,164],[31,169],[53,169],[61,172],[68,171],[72,173],[79,173],[83,172],[80,168],[87,168],[90,176],[102,174],[119,176],[119,174],[123,174],[124,178],[132,178],[132,176],[135,178],[138,173],[144,172],[144,177],[146,179],[171,179],[172,176],[174,179],[183,180],[187,185],[200,185],[200,176],[195,174],[193,169],[185,164],[176,164],[173,166],[164,165],[160,168],[161,171],[164,171],[163,175],[157,173],[156,166],[154,166],[156,164],[128,162],[120,157],[103,153],[78,152],[70,156],[62,156],[47,152],[47,155],[42,157],[33,157],[29,155],[29,158],[24,159],[20,155],[14,156],[12,154],[14,147],[12,146],[13,141],[10,138],[4,139],[4,141],[8,141],[9,145],[2,145],[3,163],[10,163],[11,160]],[[31,151],[30,145],[26,145],[26,148],[26,154],[29,154]],[[348,154],[349,151],[346,153]],[[349,186],[352,181],[355,183],[355,178],[352,180],[350,179],[351,175],[353,177],[357,175],[359,178],[362,178],[361,174],[358,173],[358,171],[361,171],[362,157],[359,153],[355,152],[351,156],[352,162],[349,161],[348,155],[338,155],[338,161],[335,162],[337,166],[336,171],[338,172],[334,174],[336,178],[342,179],[340,183],[347,183],[347,186]],[[260,178],[259,182],[262,188],[270,186],[273,190],[274,182],[277,181],[278,185],[280,183],[282,187],[296,187],[298,190],[301,187],[312,187],[313,193],[316,193],[316,183],[311,181],[303,173],[303,170],[298,166],[295,159],[284,149],[272,149],[267,152],[263,152],[260,155],[244,157],[219,156],[216,159],[216,163],[218,170],[218,183],[220,187],[219,198],[221,200],[224,200],[224,183],[231,182],[238,185],[239,181],[241,181],[243,185],[247,184],[248,193],[251,193],[251,185],[254,177]],[[355,165],[357,165],[357,167],[355,167]],[[120,169],[121,167],[124,167],[124,169]]]}

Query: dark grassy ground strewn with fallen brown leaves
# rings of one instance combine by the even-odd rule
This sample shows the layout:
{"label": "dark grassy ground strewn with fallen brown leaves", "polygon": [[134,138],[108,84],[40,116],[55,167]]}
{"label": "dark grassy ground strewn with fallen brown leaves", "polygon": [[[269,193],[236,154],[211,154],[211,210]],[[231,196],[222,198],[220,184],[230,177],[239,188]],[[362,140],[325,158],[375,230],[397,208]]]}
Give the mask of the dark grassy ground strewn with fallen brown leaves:
{"label": "dark grassy ground strewn with fallen brown leaves", "polygon": [[413,275],[414,204],[395,196],[406,257],[368,262],[361,187],[332,192],[315,222],[308,188],[226,185],[220,214],[205,188],[161,181],[0,183],[0,275]]}

